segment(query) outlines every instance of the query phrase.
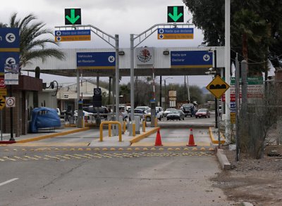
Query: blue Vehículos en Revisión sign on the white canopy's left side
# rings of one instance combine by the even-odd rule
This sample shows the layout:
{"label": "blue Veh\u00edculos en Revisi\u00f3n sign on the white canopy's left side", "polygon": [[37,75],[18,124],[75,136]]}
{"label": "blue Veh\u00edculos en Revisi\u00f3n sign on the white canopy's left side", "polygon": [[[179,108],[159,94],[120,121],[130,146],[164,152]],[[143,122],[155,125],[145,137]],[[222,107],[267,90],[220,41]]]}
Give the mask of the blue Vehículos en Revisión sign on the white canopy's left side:
{"label": "blue Veh\u00edculos en Revisi\u00f3n sign on the white canopy's left side", "polygon": [[76,53],[78,69],[115,69],[115,52],[78,52]]}

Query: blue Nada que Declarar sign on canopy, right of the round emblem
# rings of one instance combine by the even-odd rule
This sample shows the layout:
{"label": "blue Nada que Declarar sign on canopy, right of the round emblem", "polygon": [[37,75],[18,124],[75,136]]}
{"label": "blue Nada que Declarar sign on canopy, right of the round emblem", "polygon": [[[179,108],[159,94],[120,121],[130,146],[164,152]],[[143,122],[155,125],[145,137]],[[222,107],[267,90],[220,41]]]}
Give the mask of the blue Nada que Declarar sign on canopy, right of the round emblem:
{"label": "blue Nada que Declarar sign on canopy, right of the round emblem", "polygon": [[171,51],[171,68],[177,67],[212,67],[212,52]]}

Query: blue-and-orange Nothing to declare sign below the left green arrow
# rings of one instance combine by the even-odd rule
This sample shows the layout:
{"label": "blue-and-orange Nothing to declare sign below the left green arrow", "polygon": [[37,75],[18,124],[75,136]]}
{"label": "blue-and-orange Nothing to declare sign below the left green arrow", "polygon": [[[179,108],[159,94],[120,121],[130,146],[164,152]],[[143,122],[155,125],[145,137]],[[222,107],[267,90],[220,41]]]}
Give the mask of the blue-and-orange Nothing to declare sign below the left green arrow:
{"label": "blue-and-orange Nothing to declare sign below the left green arrow", "polygon": [[56,30],[55,41],[90,41],[91,30]]}

